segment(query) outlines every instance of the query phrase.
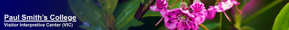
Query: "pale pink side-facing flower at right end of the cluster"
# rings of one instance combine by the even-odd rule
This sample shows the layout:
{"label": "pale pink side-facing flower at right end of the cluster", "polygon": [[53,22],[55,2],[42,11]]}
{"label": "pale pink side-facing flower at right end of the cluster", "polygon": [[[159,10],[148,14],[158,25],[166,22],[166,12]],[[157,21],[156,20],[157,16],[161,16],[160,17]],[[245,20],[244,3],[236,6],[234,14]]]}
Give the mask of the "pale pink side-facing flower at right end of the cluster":
{"label": "pale pink side-facing flower at right end of the cluster", "polygon": [[[219,0],[219,1],[221,1],[221,0]],[[221,2],[219,2],[218,5],[209,7],[209,9],[207,10],[208,16],[206,17],[206,19],[211,20],[215,17],[216,12],[223,12],[225,14],[225,16],[227,17],[227,19],[229,21],[231,21],[224,11],[231,9],[233,5],[238,5],[238,4],[240,4],[240,3],[238,3],[236,0],[222,0]],[[241,13],[241,11],[239,11],[239,12]]]}

